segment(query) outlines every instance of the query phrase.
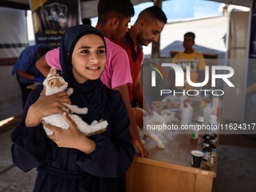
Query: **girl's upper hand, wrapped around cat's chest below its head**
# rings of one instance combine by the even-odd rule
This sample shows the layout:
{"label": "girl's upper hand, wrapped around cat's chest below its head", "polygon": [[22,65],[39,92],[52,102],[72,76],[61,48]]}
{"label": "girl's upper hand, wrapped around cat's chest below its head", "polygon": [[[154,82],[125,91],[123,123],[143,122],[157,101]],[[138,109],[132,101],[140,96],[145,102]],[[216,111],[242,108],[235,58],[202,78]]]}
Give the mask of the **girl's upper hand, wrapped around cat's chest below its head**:
{"label": "girl's upper hand, wrapped around cat's chest below its head", "polygon": [[25,124],[27,127],[38,126],[41,118],[50,114],[62,114],[68,108],[62,102],[71,104],[69,95],[66,91],[45,96],[45,86],[38,100],[29,107]]}

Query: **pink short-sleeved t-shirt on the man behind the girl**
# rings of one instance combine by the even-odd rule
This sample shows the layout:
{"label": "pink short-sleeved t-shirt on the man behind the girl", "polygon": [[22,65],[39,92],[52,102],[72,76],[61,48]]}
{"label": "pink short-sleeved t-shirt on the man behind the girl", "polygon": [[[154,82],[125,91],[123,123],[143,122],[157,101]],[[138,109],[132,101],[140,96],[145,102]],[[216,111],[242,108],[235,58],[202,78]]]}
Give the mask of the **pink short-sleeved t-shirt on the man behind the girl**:
{"label": "pink short-sleeved t-shirt on the man behind the girl", "polygon": [[[108,38],[105,38],[105,43],[107,46],[107,61],[100,80],[110,89],[123,84],[132,84],[133,79],[130,74],[130,63],[126,51]],[[59,47],[48,51],[45,59],[50,67],[62,70],[59,64]]]}

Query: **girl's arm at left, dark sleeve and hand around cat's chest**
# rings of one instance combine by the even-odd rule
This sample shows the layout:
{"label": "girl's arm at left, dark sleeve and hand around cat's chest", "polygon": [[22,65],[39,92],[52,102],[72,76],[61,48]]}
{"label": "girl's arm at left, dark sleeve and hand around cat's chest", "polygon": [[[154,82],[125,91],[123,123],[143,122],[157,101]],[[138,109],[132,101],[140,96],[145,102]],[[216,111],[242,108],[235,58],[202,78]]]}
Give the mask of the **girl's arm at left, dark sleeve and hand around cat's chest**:
{"label": "girl's arm at left, dark sleeve and hand around cat's chest", "polygon": [[65,93],[53,96],[45,96],[44,93],[45,90],[42,91],[41,86],[32,90],[24,107],[20,124],[11,134],[11,141],[14,143],[11,148],[14,164],[24,172],[41,166],[41,163],[46,160],[49,139],[41,124],[41,117],[54,111],[62,113],[63,110],[58,109],[62,107],[61,104],[57,104],[58,100],[70,102],[69,97],[59,98]]}

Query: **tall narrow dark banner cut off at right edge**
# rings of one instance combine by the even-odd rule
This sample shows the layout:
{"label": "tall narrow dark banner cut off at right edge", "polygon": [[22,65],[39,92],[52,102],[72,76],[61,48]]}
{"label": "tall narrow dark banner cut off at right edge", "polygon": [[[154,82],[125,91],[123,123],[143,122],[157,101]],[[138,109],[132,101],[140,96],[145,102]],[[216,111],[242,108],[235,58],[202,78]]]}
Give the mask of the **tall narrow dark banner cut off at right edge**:
{"label": "tall narrow dark banner cut off at right edge", "polygon": [[251,23],[248,41],[248,62],[245,90],[244,122],[256,122],[256,0],[251,5]]}

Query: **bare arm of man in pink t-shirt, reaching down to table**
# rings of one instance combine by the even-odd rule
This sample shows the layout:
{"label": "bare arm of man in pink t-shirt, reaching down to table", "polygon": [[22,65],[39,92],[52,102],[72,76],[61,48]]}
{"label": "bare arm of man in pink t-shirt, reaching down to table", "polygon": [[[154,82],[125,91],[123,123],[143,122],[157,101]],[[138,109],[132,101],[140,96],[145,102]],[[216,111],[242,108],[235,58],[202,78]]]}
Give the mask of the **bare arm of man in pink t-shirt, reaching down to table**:
{"label": "bare arm of man in pink t-shirt, reaching down to table", "polygon": [[130,100],[128,97],[128,87],[127,84],[121,85],[119,87],[115,87],[114,90],[118,90],[123,97],[123,102],[126,105],[128,115],[130,117],[130,132],[133,137],[133,142],[139,149],[139,151],[142,153],[142,157],[149,157],[148,152],[145,150],[145,148],[142,145],[142,141],[139,136],[139,130],[137,128],[136,118],[133,112],[132,105],[130,105]]}

